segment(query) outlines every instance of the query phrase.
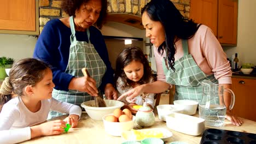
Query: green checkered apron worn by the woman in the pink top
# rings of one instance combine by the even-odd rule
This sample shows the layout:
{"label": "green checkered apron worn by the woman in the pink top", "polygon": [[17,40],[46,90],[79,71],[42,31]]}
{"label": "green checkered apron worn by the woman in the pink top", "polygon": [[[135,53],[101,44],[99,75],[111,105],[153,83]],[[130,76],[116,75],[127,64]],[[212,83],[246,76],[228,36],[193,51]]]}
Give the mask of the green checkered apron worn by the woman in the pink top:
{"label": "green checkered apron worn by the woman in the pink top", "polygon": [[[213,83],[218,83],[218,81],[213,74],[206,75],[198,67],[194,58],[188,53],[188,40],[182,40],[182,47],[184,56],[174,62],[175,71],[166,63],[166,57],[162,60],[166,82],[175,85],[175,100],[189,99],[200,103],[202,99],[201,81],[210,80]],[[218,100],[214,100],[213,103],[218,103]]]}

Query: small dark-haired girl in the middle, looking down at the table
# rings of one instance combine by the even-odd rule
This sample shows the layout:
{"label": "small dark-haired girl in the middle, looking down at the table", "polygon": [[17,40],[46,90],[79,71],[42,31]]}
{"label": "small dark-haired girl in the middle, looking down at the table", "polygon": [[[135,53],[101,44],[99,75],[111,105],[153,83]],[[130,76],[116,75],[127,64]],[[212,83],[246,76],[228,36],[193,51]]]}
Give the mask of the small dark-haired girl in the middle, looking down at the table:
{"label": "small dark-haired girl in the middle, looking down at the table", "polygon": [[[114,78],[118,95],[145,83],[154,82],[148,60],[139,47],[129,47],[118,55]],[[145,104],[153,109],[154,95],[154,93],[142,93],[137,95],[133,101],[121,99],[125,103],[122,109],[129,109],[133,114],[137,113],[137,109],[133,108],[134,105]]]}

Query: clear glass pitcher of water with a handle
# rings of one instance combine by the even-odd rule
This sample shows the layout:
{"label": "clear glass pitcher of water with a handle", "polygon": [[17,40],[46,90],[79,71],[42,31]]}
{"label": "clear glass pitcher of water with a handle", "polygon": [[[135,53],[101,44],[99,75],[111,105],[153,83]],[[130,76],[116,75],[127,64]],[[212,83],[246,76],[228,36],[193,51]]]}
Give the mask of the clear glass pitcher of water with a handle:
{"label": "clear glass pitcher of water with a handle", "polygon": [[199,104],[199,117],[205,119],[205,125],[211,127],[222,127],[226,116],[226,106],[223,93],[231,94],[231,110],[235,104],[235,94],[229,88],[224,88],[211,81],[202,81],[202,100]]}

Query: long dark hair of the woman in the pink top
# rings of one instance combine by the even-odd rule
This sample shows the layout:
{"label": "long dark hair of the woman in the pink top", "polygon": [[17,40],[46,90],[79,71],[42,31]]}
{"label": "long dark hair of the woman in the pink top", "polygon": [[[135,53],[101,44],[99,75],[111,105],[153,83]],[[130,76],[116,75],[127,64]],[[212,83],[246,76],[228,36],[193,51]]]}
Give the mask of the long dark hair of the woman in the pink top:
{"label": "long dark hair of the woman in the pink top", "polygon": [[175,70],[174,54],[176,53],[175,43],[179,39],[190,39],[194,36],[199,26],[192,20],[188,20],[179,12],[170,0],[152,0],[141,10],[141,14],[146,14],[152,21],[160,21],[165,29],[165,41],[158,47],[158,52],[162,55],[166,49],[168,64]]}

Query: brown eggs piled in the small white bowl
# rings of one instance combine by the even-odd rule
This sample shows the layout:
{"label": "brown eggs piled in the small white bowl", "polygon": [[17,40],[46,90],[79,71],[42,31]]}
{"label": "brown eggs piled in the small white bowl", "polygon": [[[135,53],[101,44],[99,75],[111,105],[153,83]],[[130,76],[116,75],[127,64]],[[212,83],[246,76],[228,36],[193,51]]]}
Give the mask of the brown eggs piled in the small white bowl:
{"label": "brown eggs piled in the small white bowl", "polygon": [[132,121],[132,114],[129,109],[115,109],[113,115],[108,115],[105,118],[109,122],[129,122]]}

